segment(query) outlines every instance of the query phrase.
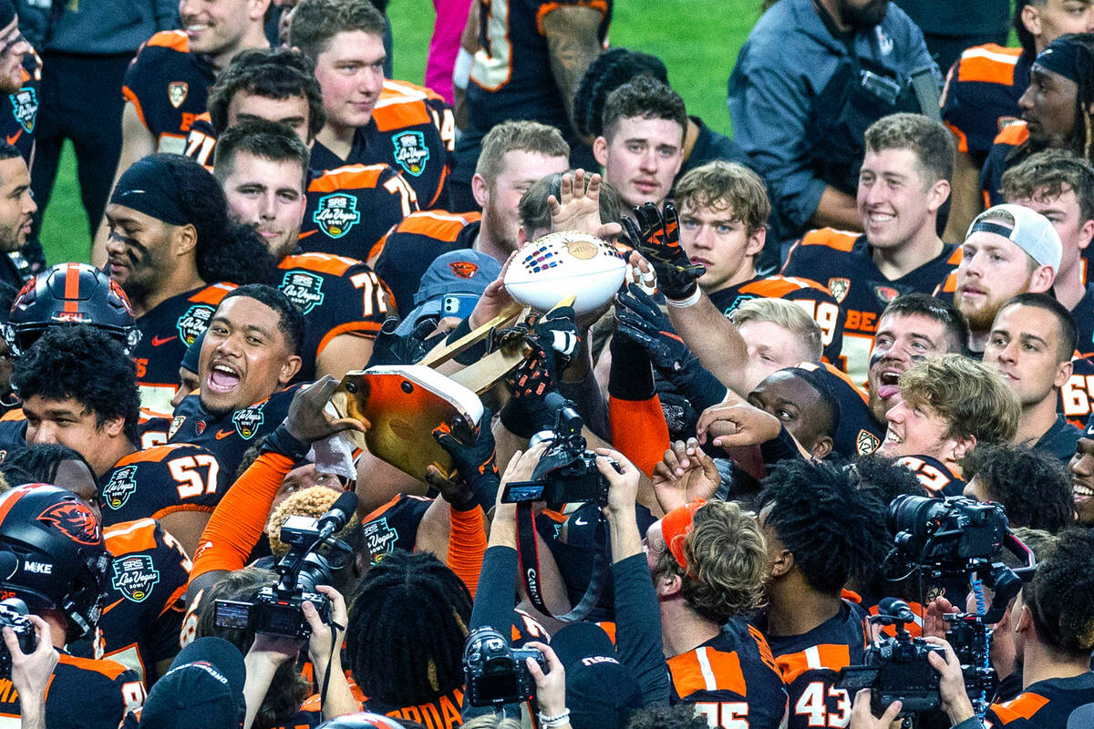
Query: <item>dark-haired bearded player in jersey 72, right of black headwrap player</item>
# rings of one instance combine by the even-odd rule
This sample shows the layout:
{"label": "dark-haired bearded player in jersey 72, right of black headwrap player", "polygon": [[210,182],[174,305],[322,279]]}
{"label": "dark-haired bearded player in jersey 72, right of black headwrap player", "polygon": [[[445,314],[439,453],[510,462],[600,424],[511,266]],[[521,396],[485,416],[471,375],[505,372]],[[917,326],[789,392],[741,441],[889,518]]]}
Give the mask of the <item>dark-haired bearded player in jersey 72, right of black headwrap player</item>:
{"label": "dark-haired bearded player in jersey 72, right of black headwrap player", "polygon": [[224,133],[214,173],[233,215],[255,226],[279,261],[278,289],[307,317],[296,379],[311,381],[325,374],[341,379],[363,367],[375,333],[395,306],[386,285],[360,260],[300,252],[301,215],[313,197],[309,192],[305,200],[304,195],[307,148],[281,125],[249,121]]}

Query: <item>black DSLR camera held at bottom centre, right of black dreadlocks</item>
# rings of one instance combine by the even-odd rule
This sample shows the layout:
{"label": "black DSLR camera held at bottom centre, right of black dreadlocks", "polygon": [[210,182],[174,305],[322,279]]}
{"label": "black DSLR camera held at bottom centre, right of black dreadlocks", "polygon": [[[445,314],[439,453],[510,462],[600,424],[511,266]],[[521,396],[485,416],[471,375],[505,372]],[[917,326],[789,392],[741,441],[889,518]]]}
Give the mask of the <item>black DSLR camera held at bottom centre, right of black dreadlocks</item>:
{"label": "black DSLR camera held at bottom centre, right of black dreadlocks", "polygon": [[464,645],[464,685],[472,706],[501,706],[531,701],[536,683],[524,662],[534,658],[547,671],[547,659],[536,648],[513,648],[492,627],[472,631]]}

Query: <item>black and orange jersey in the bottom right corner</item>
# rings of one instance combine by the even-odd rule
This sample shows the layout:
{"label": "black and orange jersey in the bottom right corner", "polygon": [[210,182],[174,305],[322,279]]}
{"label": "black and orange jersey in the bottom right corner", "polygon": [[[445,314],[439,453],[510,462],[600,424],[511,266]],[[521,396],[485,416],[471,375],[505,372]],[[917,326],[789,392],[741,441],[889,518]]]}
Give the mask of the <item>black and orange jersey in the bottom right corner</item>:
{"label": "black and orange jersey in the bottom right corner", "polygon": [[1094,704],[1094,673],[1087,671],[1070,679],[1046,679],[1029,684],[1013,701],[992,704],[984,717],[984,726],[987,729],[1089,726],[1068,721],[1072,712],[1087,704]]}

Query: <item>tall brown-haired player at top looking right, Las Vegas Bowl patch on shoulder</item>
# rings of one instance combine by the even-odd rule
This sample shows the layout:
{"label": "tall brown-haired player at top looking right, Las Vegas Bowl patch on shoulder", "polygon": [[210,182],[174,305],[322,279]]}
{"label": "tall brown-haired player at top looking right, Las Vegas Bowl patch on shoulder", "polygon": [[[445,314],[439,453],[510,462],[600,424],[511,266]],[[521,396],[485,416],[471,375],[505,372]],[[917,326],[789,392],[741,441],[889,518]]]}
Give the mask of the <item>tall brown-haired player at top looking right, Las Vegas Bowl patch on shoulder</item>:
{"label": "tall brown-haired player at top looking right, Las Vegas Bowl patch on shoulder", "polygon": [[315,63],[327,116],[312,169],[388,164],[406,175],[422,209],[446,208],[455,122],[428,89],[385,86],[386,26],[368,0],[304,0],[293,10],[289,42]]}

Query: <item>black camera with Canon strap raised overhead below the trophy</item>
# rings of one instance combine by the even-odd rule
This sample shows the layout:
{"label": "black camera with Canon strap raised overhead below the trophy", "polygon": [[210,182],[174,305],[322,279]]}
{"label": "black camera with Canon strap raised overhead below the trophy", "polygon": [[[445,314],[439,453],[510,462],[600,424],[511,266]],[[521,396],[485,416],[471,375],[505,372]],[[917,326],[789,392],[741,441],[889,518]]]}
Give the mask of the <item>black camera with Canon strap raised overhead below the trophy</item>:
{"label": "black camera with Canon strap raised overhead below the trophy", "polygon": [[[547,502],[550,508],[567,503],[608,503],[608,481],[596,468],[596,454],[585,448],[581,435],[581,415],[569,400],[561,400],[555,416],[555,428],[537,434],[532,444],[546,440],[550,447],[540,457],[531,481],[514,481],[505,485],[503,504]],[[619,465],[615,461],[616,469]]]}

